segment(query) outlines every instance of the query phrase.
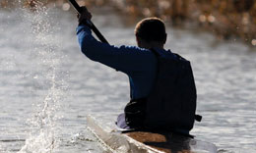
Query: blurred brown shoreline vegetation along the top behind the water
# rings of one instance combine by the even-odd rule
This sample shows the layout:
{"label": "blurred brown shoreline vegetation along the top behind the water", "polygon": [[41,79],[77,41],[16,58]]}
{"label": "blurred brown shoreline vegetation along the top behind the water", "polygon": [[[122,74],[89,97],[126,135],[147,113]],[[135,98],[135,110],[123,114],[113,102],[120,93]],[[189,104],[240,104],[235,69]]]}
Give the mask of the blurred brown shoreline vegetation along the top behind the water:
{"label": "blurred brown shoreline vegetation along the top behind the water", "polygon": [[[19,0],[34,11],[36,5],[58,7],[69,11],[67,0]],[[135,19],[159,17],[171,26],[204,29],[219,39],[244,41],[256,46],[256,0],[77,0],[89,8],[110,6]],[[1,0],[0,8],[17,6]],[[135,21],[134,21],[135,22]]]}

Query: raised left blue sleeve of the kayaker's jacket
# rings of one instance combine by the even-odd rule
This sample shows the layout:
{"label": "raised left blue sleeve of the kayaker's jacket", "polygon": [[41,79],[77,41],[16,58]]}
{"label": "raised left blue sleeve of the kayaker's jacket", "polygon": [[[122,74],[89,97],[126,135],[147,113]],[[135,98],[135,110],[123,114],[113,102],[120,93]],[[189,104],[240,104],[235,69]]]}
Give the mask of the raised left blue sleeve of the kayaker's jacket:
{"label": "raised left blue sleeve of the kayaker's jacket", "polygon": [[88,58],[125,74],[145,70],[144,64],[154,57],[147,49],[101,43],[92,35],[88,26],[78,26],[77,36],[81,51]]}

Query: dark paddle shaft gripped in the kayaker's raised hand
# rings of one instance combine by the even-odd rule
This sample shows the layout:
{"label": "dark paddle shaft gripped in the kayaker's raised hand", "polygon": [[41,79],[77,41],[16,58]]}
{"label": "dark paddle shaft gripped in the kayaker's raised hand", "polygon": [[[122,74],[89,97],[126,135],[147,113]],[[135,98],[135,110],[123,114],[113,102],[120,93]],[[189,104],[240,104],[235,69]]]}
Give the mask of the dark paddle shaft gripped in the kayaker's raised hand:
{"label": "dark paddle shaft gripped in the kayaker's raised hand", "polygon": [[[77,10],[79,14],[82,13],[82,8],[78,5],[76,0],[69,0],[69,2],[73,5],[73,7]],[[87,25],[96,33],[97,38],[101,42],[109,44],[107,40],[104,38],[104,36],[100,33],[100,31],[96,28],[96,26],[92,21],[87,20]]]}

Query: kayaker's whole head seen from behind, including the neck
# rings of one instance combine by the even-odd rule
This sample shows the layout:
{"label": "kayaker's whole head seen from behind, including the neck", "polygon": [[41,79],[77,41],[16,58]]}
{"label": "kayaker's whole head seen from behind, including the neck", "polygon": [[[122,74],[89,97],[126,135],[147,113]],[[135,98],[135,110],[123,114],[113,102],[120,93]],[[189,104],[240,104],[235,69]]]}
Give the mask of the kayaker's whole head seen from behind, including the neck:
{"label": "kayaker's whole head seen from behind, including the neck", "polygon": [[163,48],[167,34],[159,18],[146,18],[135,27],[137,44],[142,48]]}

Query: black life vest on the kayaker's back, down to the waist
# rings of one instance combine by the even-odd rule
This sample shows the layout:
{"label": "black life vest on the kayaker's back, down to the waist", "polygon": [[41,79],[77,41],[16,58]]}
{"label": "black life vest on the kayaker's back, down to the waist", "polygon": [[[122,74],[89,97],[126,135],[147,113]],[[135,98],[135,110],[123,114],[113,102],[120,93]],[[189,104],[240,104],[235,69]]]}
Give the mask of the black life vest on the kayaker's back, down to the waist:
{"label": "black life vest on the kayaker's back, down to the waist", "polygon": [[125,107],[126,124],[131,128],[185,129],[201,121],[196,112],[196,86],[190,62],[178,54],[158,59],[155,86],[146,98],[131,100]]}

